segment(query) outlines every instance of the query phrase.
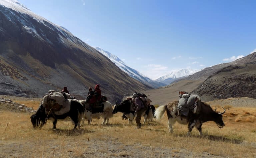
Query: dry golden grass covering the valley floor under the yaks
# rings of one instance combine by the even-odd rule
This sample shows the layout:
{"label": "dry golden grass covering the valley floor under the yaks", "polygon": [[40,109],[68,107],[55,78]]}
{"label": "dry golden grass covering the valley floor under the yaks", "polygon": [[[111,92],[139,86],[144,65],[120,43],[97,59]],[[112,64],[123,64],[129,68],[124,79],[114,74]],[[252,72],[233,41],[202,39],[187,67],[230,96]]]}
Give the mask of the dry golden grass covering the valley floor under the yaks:
{"label": "dry golden grass covering the valley floor under the yaks", "polygon": [[[226,110],[226,126],[219,129],[214,122],[206,122],[202,126],[203,137],[198,136],[196,129],[187,137],[187,126],[178,123],[173,127],[174,134],[167,133],[166,114],[159,122],[143,125],[140,130],[134,129],[135,124],[128,125],[127,120],[121,119],[122,114],[117,113],[108,126],[100,124],[102,119],[93,119],[91,125],[82,125],[75,132],[69,120],[59,120],[57,130],[51,129],[51,121],[34,130],[30,115],[0,113],[3,157],[169,157],[181,153],[183,157],[204,157],[204,152],[212,157],[256,157],[256,108]],[[138,152],[142,155],[137,155]],[[171,155],[166,155],[168,152]]]}

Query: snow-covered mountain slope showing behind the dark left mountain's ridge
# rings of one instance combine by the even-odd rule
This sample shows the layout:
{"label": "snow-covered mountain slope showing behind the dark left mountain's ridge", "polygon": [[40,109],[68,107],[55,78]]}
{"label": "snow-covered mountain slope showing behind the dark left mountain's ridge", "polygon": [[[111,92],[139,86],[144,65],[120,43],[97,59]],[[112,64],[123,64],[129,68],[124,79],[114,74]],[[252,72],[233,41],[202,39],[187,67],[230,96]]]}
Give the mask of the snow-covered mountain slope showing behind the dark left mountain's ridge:
{"label": "snow-covered mountain slope showing behind the dark left mountain's ridge", "polygon": [[149,85],[151,87],[154,87],[154,88],[166,85],[164,83],[154,81],[154,80],[144,76],[143,74],[139,73],[137,70],[134,70],[134,69],[128,67],[121,59],[119,59],[117,56],[111,54],[110,52],[105,51],[99,47],[95,47],[95,49],[97,51],[99,51],[101,54],[103,54],[104,56],[108,57],[113,63],[115,63],[116,66],[118,66],[122,71],[124,71],[126,74],[128,74],[133,79],[137,79],[138,81],[140,81],[146,85]]}

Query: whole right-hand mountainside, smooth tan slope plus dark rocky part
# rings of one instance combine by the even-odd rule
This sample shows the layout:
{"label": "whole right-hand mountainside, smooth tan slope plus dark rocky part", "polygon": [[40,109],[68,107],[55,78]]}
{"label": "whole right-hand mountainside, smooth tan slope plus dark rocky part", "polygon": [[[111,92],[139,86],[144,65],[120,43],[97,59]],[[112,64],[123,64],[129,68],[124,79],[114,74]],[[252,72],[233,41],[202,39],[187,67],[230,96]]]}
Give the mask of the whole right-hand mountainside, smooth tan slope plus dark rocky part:
{"label": "whole right-hand mountainside, smooth tan slope plus dark rocky part", "polygon": [[[168,86],[143,91],[152,104],[163,105],[179,99],[179,91],[200,95],[202,101],[231,97],[256,98],[256,52],[230,63],[215,65],[178,79]],[[238,98],[239,99],[239,98]]]}

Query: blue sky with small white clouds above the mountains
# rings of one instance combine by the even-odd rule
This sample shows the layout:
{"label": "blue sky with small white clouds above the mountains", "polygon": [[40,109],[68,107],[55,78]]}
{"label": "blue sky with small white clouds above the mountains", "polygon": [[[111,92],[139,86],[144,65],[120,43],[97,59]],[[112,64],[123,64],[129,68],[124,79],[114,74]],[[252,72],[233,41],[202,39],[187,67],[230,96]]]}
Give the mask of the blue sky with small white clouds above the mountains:
{"label": "blue sky with small white clouds above the mountains", "polygon": [[156,79],[256,51],[255,0],[18,0]]}

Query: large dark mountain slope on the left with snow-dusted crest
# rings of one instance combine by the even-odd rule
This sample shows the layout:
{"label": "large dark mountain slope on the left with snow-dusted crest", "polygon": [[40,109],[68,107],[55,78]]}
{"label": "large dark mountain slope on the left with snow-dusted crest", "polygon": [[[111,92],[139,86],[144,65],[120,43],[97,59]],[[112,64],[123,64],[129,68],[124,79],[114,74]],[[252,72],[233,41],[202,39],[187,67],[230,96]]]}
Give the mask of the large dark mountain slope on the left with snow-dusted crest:
{"label": "large dark mountain slope on the left with snow-dusted crest", "polygon": [[0,0],[0,95],[42,97],[67,86],[84,99],[100,84],[110,101],[151,89],[67,29],[15,0]]}

